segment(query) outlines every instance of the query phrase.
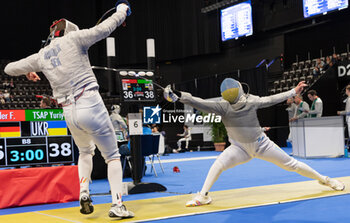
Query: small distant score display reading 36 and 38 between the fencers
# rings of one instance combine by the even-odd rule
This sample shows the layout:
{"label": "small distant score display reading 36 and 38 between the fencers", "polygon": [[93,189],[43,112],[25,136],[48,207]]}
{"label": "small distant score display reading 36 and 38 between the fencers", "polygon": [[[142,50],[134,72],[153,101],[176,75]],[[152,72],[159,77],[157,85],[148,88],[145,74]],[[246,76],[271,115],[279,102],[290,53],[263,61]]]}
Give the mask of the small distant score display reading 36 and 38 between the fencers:
{"label": "small distant score display reading 36 and 38 between the fencers", "polygon": [[155,101],[153,81],[144,79],[121,79],[123,101]]}

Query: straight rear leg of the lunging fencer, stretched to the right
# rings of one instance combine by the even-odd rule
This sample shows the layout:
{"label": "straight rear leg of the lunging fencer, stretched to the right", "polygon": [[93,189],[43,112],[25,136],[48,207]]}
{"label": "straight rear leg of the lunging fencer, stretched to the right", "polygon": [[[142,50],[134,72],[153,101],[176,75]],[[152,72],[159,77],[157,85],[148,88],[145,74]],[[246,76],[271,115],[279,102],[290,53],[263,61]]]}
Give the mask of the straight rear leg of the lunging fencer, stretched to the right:
{"label": "straight rear leg of the lunging fencer, stretched to the right", "polygon": [[274,163],[285,170],[297,172],[304,177],[318,180],[321,184],[330,186],[335,190],[344,189],[344,184],[323,176],[307,164],[290,157],[267,137],[260,143],[258,151],[257,158],[259,159]]}

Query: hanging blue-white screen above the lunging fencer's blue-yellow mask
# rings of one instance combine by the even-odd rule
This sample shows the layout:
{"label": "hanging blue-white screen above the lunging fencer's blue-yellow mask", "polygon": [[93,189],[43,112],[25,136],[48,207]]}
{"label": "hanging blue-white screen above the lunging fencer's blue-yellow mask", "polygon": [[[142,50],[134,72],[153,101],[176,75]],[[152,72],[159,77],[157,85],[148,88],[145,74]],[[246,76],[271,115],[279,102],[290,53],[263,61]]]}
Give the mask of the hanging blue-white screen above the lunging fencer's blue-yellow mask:
{"label": "hanging blue-white screen above the lunging fencer's blue-yellow mask", "polygon": [[222,41],[253,34],[251,1],[222,9],[220,14]]}

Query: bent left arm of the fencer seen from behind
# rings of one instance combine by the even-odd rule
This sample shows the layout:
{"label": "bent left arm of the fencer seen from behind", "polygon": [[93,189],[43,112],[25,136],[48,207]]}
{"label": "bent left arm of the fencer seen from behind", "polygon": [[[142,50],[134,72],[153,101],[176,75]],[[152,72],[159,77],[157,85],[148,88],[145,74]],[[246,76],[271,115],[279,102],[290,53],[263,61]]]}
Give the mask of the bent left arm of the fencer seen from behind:
{"label": "bent left arm of the fencer seen from behind", "polygon": [[41,71],[39,65],[39,55],[33,54],[24,59],[6,65],[4,72],[10,76],[26,75],[30,72]]}

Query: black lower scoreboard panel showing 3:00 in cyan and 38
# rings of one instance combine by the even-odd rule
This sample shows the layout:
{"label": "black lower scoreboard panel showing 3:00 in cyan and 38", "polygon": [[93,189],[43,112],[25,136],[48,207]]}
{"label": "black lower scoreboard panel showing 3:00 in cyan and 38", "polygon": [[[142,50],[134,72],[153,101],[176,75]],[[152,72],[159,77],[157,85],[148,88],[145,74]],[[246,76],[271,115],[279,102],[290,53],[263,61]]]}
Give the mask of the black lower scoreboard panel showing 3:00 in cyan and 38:
{"label": "black lower scoreboard panel showing 3:00 in cyan and 38", "polygon": [[0,138],[0,167],[72,162],[71,136]]}

